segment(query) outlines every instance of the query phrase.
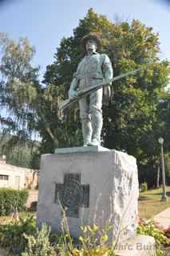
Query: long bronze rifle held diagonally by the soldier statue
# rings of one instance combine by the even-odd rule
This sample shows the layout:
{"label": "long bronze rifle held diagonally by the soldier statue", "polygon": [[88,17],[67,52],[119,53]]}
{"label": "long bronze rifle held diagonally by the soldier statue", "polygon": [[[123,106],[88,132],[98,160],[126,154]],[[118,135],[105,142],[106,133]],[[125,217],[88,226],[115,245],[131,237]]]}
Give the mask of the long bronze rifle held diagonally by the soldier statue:
{"label": "long bronze rifle held diagonally by the soldier statue", "polygon": [[104,81],[104,82],[101,82],[98,85],[90,86],[90,87],[87,87],[87,88],[82,89],[82,90],[77,90],[77,96],[75,96],[73,98],[67,98],[67,99],[65,99],[64,102],[59,102],[58,103],[58,110],[59,110],[58,114],[59,114],[59,116],[61,116],[61,113],[62,113],[63,110],[67,109],[74,102],[79,101],[81,98],[83,98],[83,97],[93,93],[94,91],[100,89],[101,87],[108,86],[112,82],[115,82],[115,81],[117,81],[117,80],[119,80],[121,78],[126,78],[126,77],[128,77],[128,76],[130,76],[132,74],[136,74],[138,71],[140,71],[140,68],[136,69],[136,70],[129,71],[129,72],[125,73],[125,74],[120,74],[117,77],[109,79],[109,80]]}

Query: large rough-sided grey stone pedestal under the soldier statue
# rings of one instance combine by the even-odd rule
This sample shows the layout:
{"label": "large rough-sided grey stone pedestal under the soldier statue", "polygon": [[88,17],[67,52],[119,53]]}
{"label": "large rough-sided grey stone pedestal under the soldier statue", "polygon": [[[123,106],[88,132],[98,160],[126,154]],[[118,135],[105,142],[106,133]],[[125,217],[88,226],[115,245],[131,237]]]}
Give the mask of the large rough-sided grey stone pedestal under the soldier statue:
{"label": "large rough-sided grey stone pedestal under the soldier statue", "polygon": [[56,153],[42,155],[38,226],[46,222],[52,230],[60,232],[64,209],[70,233],[76,238],[82,225],[96,223],[103,228],[106,222],[113,227],[110,239],[120,231],[122,240],[135,234],[136,159],[93,146],[79,148],[78,152],[73,148]]}

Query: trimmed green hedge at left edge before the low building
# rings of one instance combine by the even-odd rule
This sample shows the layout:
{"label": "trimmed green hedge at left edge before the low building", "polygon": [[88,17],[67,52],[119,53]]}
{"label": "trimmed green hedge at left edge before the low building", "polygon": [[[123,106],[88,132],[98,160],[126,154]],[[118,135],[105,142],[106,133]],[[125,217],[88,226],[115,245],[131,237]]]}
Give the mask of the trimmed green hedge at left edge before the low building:
{"label": "trimmed green hedge at left edge before the low building", "polygon": [[12,214],[26,209],[26,200],[29,196],[27,190],[0,189],[0,216]]}

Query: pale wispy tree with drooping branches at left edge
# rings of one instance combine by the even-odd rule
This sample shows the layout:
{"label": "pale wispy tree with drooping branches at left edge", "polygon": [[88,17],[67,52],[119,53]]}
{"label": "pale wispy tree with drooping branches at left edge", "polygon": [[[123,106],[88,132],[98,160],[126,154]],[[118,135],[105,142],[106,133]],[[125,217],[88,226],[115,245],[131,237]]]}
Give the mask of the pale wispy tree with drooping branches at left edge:
{"label": "pale wispy tree with drooping branches at left edge", "polygon": [[[53,145],[52,148],[57,146],[57,137],[49,125],[50,116],[53,117],[50,99],[53,95],[57,98],[57,88],[50,84],[45,88],[38,82],[38,68],[32,65],[35,50],[30,46],[27,38],[20,38],[18,42],[14,42],[6,34],[1,33],[0,47],[2,50],[0,104],[5,112],[0,115],[2,154],[6,154],[7,160],[17,165],[25,162],[25,166],[35,165],[37,168],[38,164],[34,157],[38,155],[38,150],[34,150],[30,163],[26,163],[26,154],[23,154],[23,151],[26,144],[26,147],[30,146],[30,151],[33,152],[35,146],[30,139],[38,132],[40,135],[47,134],[47,142]],[[53,98],[53,106],[55,98]],[[46,110],[49,110],[47,119]],[[5,134],[10,134],[7,140]],[[42,141],[45,145],[43,136]],[[47,152],[51,150],[48,148],[48,143],[45,148]],[[11,150],[14,152],[11,153]]]}

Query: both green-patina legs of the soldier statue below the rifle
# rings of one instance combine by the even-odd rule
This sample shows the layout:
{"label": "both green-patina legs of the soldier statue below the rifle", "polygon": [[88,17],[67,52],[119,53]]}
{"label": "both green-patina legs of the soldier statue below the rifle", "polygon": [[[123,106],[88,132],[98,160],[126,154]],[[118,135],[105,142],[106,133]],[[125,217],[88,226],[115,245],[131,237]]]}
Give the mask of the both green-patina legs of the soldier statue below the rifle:
{"label": "both green-patina legs of the soldier statue below the rifle", "polygon": [[89,94],[79,101],[80,118],[84,145],[89,142],[101,142],[102,118],[102,95],[103,89]]}

